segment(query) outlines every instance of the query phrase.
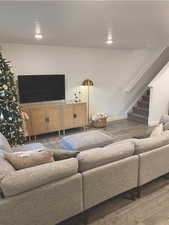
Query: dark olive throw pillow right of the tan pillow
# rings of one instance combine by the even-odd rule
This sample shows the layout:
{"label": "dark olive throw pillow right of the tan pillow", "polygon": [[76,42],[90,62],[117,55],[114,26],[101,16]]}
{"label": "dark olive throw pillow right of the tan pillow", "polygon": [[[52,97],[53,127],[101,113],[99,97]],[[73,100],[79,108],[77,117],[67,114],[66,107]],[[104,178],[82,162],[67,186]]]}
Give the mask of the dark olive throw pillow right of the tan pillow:
{"label": "dark olive throw pillow right of the tan pillow", "polygon": [[76,156],[80,153],[79,151],[70,151],[62,149],[55,149],[51,151],[53,152],[53,157],[55,161],[69,158],[76,158]]}

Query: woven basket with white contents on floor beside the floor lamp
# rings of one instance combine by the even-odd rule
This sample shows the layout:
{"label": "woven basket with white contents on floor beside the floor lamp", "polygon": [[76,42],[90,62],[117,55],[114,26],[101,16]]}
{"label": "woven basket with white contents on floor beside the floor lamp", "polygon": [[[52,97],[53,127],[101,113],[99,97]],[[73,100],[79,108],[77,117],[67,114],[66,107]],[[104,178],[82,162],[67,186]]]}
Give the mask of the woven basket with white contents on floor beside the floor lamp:
{"label": "woven basket with white contents on floor beside the floor lamp", "polygon": [[92,124],[96,128],[103,128],[107,126],[108,115],[106,113],[96,113],[92,117]]}

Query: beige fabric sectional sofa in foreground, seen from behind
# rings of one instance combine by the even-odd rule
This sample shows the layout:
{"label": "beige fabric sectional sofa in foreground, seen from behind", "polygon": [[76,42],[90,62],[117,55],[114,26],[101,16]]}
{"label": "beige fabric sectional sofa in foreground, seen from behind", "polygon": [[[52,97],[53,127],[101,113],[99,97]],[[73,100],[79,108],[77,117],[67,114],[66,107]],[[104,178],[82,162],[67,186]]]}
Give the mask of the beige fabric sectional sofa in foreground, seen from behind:
{"label": "beige fabric sectional sofa in foreground, seen from behind", "polygon": [[0,225],[55,225],[169,173],[168,158],[166,132],[5,173],[0,176]]}

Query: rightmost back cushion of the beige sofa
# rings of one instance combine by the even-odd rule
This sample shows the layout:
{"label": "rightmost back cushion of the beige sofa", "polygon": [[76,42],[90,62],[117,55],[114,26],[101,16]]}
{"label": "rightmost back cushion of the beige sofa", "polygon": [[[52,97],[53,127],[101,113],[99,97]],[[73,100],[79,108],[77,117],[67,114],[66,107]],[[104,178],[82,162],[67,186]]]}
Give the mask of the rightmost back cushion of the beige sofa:
{"label": "rightmost back cushion of the beige sofa", "polygon": [[148,137],[144,139],[135,139],[135,153],[140,154],[148,152],[156,148],[162,147],[169,144],[169,132],[163,132],[163,135],[158,137]]}

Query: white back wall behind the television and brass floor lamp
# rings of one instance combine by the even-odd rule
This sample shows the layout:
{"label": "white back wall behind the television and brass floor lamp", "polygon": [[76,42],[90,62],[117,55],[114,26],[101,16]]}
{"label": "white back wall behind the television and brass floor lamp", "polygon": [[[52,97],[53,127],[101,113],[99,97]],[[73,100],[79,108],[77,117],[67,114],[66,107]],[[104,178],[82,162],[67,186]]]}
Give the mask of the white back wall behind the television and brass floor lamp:
{"label": "white back wall behind the television and brass floor lamp", "polygon": [[[3,55],[18,74],[66,74],[66,98],[81,82],[90,78],[93,112],[106,112],[111,119],[125,117],[125,111],[140,92],[138,84],[126,93],[127,84],[143,69],[157,50],[115,50],[40,45],[1,44]],[[84,93],[84,90],[83,90]]]}

